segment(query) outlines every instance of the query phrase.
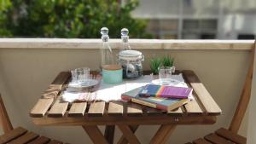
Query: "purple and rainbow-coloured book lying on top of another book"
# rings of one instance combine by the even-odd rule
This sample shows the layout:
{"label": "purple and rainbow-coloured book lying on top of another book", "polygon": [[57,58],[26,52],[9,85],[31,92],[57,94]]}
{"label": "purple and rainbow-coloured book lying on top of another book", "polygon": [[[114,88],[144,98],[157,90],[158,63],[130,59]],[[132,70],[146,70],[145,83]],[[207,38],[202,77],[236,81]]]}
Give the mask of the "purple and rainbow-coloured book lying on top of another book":
{"label": "purple and rainbow-coloured book lying on top of another book", "polygon": [[148,84],[139,92],[139,95],[144,97],[188,99],[192,91],[193,89],[191,88]]}

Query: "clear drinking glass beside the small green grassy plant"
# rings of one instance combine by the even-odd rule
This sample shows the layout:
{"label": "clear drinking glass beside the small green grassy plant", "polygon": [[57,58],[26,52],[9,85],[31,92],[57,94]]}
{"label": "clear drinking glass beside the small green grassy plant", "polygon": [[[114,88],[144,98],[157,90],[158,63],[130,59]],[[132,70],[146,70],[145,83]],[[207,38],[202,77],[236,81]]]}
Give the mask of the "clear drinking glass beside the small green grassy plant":
{"label": "clear drinking glass beside the small green grassy plant", "polygon": [[165,66],[159,69],[159,79],[161,85],[170,84],[172,73],[175,72],[175,66]]}

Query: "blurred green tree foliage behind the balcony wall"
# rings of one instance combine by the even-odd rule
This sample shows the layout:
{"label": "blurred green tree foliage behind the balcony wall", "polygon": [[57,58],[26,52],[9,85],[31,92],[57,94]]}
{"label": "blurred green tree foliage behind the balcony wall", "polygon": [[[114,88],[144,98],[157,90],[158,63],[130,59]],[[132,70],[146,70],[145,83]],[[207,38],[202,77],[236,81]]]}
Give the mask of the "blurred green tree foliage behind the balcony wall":
{"label": "blurred green tree foliage behind the balcony wall", "polygon": [[130,37],[150,37],[145,32],[147,21],[131,17],[138,4],[138,0],[0,0],[0,37],[98,38],[103,26],[111,38],[119,37],[123,27]]}

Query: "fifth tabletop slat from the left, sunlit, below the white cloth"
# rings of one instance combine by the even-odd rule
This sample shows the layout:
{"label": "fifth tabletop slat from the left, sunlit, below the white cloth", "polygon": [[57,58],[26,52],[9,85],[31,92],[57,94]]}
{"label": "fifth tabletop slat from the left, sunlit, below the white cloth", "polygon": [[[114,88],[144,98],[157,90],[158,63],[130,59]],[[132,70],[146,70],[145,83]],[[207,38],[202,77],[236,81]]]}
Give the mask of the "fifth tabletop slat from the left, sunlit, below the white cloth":
{"label": "fifth tabletop slat from the left, sunlit, below the white cloth", "polygon": [[111,101],[108,105],[108,115],[122,116],[124,112],[122,101]]}

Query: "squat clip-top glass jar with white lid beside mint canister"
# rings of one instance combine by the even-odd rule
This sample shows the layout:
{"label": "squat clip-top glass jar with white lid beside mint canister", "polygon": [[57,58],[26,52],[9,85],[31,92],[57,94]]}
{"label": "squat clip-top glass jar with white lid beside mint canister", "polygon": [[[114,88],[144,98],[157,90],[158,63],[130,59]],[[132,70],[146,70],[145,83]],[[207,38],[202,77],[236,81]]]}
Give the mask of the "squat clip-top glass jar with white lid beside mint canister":
{"label": "squat clip-top glass jar with white lid beside mint canister", "polygon": [[144,56],[137,50],[123,50],[118,55],[123,68],[123,78],[138,78],[143,75]]}

